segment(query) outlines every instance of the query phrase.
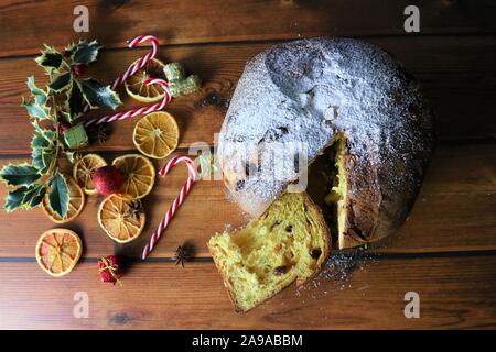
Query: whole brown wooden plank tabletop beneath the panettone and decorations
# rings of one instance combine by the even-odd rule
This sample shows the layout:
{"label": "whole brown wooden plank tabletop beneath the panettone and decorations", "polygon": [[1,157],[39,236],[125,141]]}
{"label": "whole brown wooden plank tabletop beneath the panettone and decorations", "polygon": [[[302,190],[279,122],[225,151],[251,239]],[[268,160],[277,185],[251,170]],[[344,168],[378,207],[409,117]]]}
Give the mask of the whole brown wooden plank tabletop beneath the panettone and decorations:
{"label": "whole brown wooden plank tabletop beneath the panettone and decorations", "polygon": [[[76,6],[89,9],[89,33],[73,31]],[[496,8],[494,1],[416,1],[421,33],[403,31],[410,1],[0,1],[0,164],[29,158],[32,129],[21,96],[26,77],[44,81],[33,61],[43,43],[63,47],[79,37],[105,45],[91,75],[110,82],[147,47],[126,40],[154,34],[159,58],[183,62],[205,81],[201,92],[173,100],[177,153],[214,143],[245,63],[284,40],[355,36],[401,61],[424,87],[436,116],[438,146],[412,213],[397,235],[366,252],[334,253],[317,279],[289,287],[263,306],[237,315],[206,250],[216,231],[246,222],[222,182],[194,186],[151,260],[139,252],[184,182],[179,167],[158,179],[145,200],[148,223],[118,245],[99,229],[89,197],[66,227],[84,241],[73,273],[52,278],[34,258],[39,235],[54,227],[41,209],[0,211],[0,328],[495,328],[496,327]],[[127,107],[137,106],[122,92]],[[97,112],[101,114],[101,111]],[[133,151],[134,121],[115,123],[103,145],[108,161]],[[155,163],[159,167],[163,162]],[[0,196],[6,195],[0,187]],[[196,257],[172,257],[185,241]],[[130,258],[123,286],[99,282],[96,261]],[[133,261],[131,261],[134,258]],[[74,295],[87,293],[89,317],[75,318]],[[403,315],[405,294],[420,296],[419,319]]]}

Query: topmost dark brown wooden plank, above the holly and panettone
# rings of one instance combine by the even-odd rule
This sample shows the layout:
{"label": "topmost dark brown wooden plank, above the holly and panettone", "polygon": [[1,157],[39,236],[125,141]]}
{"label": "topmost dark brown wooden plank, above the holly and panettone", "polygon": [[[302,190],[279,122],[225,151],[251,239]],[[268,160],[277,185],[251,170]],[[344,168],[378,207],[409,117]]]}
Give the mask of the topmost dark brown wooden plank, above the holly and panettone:
{"label": "topmost dark brown wooden plank, above the holly and panettone", "polygon": [[[0,7],[0,56],[36,53],[40,43],[78,40],[73,30],[77,6],[89,10],[89,36],[109,47],[123,47],[137,34],[154,34],[163,44],[281,40],[301,36],[408,35],[403,29],[407,0],[260,1],[159,0],[36,1],[4,0]],[[489,0],[417,1],[421,34],[495,33]],[[42,14],[42,15],[40,15]],[[277,21],[274,21],[277,19]]]}

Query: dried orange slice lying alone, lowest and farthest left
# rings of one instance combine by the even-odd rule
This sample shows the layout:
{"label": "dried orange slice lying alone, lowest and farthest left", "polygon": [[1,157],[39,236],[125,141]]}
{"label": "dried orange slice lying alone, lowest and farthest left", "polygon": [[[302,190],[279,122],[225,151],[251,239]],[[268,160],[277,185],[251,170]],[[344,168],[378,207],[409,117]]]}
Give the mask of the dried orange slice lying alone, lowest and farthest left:
{"label": "dried orange slice lying alone, lowest and farthest left", "polygon": [[47,274],[58,277],[72,272],[80,257],[79,237],[67,229],[45,231],[36,243],[36,261]]}

